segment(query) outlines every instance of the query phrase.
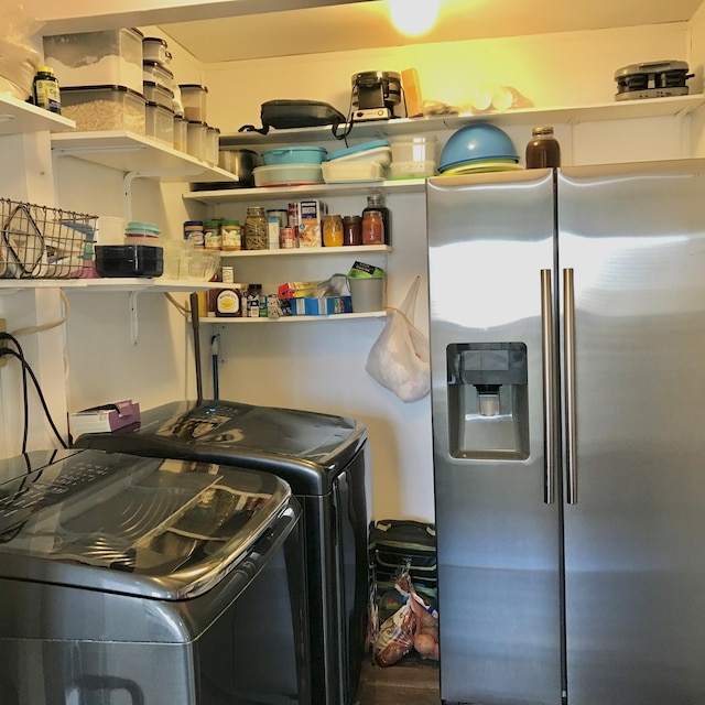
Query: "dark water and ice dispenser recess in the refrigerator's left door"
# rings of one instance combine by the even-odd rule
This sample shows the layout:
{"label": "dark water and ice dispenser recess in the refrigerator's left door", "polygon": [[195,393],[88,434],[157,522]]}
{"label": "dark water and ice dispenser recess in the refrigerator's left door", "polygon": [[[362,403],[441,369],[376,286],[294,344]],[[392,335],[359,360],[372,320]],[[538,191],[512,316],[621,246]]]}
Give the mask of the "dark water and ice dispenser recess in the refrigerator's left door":
{"label": "dark water and ice dispenser recess in the refrigerator's left door", "polygon": [[447,371],[451,455],[529,457],[527,346],[454,343],[447,347]]}

